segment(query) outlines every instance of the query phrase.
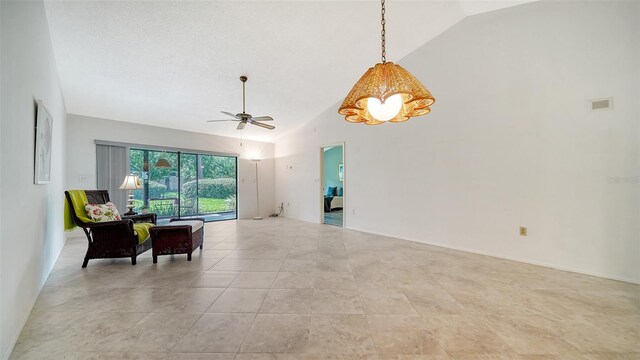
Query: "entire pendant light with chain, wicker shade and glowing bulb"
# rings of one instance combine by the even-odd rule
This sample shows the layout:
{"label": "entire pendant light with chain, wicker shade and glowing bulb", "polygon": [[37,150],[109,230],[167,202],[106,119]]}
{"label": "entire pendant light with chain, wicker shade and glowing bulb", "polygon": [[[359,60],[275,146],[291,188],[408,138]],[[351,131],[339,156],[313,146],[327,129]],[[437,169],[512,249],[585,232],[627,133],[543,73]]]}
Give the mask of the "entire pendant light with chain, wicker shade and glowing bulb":
{"label": "entire pendant light with chain, wicker shade and glowing bulb", "polygon": [[410,72],[387,62],[385,0],[382,0],[382,62],[369,68],[353,86],[338,113],[353,123],[378,125],[426,115],[435,99]]}

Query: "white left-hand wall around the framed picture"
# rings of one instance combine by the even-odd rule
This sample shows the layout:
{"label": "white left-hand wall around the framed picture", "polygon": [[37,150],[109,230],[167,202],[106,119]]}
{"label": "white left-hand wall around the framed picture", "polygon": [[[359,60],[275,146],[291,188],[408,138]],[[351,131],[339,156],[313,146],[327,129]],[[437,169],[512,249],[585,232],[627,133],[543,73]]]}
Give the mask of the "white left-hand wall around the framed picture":
{"label": "white left-hand wall around the framed picture", "polygon": [[[42,1],[3,0],[0,9],[0,353],[7,358],[64,245],[66,111]],[[47,185],[33,184],[36,99],[53,117]]]}

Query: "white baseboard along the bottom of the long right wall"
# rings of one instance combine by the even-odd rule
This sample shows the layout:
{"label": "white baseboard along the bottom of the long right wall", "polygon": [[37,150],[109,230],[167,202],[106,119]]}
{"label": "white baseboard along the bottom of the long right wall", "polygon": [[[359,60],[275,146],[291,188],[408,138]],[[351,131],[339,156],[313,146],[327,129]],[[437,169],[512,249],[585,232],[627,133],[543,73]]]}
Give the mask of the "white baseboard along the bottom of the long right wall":
{"label": "white baseboard along the bottom of the long right wall", "polygon": [[495,253],[490,253],[490,252],[484,252],[484,251],[475,250],[475,249],[469,249],[469,248],[460,247],[460,246],[451,246],[451,245],[448,245],[448,244],[435,243],[435,242],[430,242],[430,241],[422,241],[422,240],[417,240],[417,239],[412,239],[412,238],[407,238],[407,237],[402,237],[402,236],[397,236],[397,235],[391,235],[391,234],[385,234],[385,233],[375,232],[375,231],[370,231],[370,230],[364,230],[364,229],[359,229],[359,228],[354,228],[354,227],[345,227],[345,229],[354,230],[354,231],[360,231],[360,232],[367,233],[367,234],[386,236],[386,237],[396,238],[396,239],[400,239],[400,240],[416,242],[416,243],[420,243],[420,244],[437,246],[437,247],[450,249],[450,250],[464,251],[464,252],[467,252],[467,253],[472,253],[472,254],[477,254],[477,255],[490,256],[490,257],[503,259],[503,260],[511,260],[511,261],[517,261],[517,262],[530,264],[530,265],[544,266],[544,267],[547,267],[547,268],[556,269],[556,270],[562,270],[562,271],[568,271],[568,272],[572,272],[572,273],[576,273],[576,274],[595,276],[595,277],[599,277],[599,278],[603,278],[603,279],[622,281],[622,282],[626,282],[626,283],[630,283],[630,284],[640,285],[640,279],[631,279],[631,278],[626,278],[626,277],[611,276],[611,275],[608,275],[608,274],[602,274],[602,273],[598,273],[598,272],[594,272],[594,271],[589,271],[589,270],[584,270],[584,269],[576,269],[576,268],[572,268],[572,267],[569,267],[569,266],[551,264],[551,263],[546,263],[546,262],[542,262],[542,261],[535,261],[535,260],[530,260],[530,259],[522,259],[522,258],[518,258],[518,257],[507,256],[507,255],[502,255],[502,254],[495,254]]}

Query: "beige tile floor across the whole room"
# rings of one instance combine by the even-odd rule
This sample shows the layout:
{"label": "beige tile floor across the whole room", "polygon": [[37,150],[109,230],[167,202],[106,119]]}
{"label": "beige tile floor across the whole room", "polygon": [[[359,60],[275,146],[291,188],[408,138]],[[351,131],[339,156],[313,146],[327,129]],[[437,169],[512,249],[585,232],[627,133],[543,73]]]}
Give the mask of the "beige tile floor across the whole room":
{"label": "beige tile floor across the whole room", "polygon": [[193,261],[80,265],[12,359],[640,359],[640,286],[287,219],[206,225]]}

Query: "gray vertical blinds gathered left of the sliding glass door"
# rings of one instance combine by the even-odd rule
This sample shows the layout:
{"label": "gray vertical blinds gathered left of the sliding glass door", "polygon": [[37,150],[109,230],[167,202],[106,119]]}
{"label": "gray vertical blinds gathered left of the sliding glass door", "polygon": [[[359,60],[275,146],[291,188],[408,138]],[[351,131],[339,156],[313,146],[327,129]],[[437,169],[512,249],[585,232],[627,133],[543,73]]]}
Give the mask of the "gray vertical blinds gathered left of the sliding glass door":
{"label": "gray vertical blinds gathered left of the sliding glass door", "polygon": [[98,190],[109,190],[109,198],[120,214],[127,212],[129,190],[120,190],[129,174],[129,149],[124,146],[96,145]]}

